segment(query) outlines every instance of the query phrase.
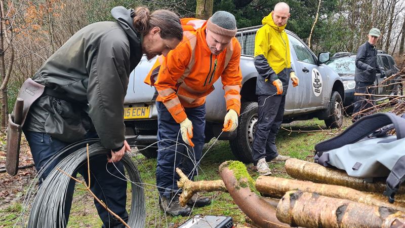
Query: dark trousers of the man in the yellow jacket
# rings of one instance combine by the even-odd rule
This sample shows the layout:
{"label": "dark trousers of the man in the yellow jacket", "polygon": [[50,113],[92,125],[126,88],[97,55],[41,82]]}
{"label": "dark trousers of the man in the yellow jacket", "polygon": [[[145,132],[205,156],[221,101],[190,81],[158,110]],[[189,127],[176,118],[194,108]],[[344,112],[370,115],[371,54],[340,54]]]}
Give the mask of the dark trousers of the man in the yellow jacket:
{"label": "dark trousers of the man in the yellow jacket", "polygon": [[266,158],[271,161],[278,156],[275,136],[280,129],[286,96],[259,95],[256,133],[253,139],[253,160]]}

